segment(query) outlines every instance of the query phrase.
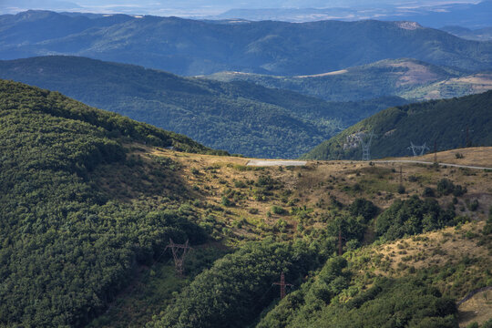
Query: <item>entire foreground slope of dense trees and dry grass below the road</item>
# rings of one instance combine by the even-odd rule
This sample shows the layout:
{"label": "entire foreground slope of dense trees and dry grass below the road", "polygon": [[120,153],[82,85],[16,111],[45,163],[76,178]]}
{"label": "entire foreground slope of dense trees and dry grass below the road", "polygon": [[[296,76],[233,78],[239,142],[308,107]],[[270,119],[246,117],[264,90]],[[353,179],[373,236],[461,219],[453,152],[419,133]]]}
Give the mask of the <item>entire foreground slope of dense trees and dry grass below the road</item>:
{"label": "entire foreground slope of dense trees and dry grass below the road", "polygon": [[[1,81],[0,96],[0,325],[451,327],[456,300],[490,282],[487,171],[254,168],[57,92]],[[184,278],[169,238],[193,247]],[[421,255],[446,242],[448,260]]]}

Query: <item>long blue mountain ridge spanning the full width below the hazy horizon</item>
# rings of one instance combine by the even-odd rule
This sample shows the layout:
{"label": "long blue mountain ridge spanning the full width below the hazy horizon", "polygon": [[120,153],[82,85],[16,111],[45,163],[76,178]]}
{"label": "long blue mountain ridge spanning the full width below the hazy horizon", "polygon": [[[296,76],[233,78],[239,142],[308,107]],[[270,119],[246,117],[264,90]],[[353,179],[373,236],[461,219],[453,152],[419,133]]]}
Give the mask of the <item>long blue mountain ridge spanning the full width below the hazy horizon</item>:
{"label": "long blue mountain ridge spanning the full width below the hazy horizon", "polygon": [[28,11],[0,16],[0,26],[2,59],[89,56],[179,75],[224,70],[312,75],[401,57],[469,71],[492,67],[492,42],[398,22],[213,24],[177,17],[90,19]]}

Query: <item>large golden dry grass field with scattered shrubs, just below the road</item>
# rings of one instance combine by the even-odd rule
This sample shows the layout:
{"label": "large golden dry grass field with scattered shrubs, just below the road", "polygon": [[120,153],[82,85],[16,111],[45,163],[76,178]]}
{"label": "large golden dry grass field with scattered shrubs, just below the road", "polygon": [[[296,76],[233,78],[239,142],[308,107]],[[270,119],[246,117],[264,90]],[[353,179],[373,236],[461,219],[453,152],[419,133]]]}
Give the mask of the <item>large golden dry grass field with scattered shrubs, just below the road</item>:
{"label": "large golden dry grass field with scattered shrubs, just below the road", "polygon": [[[442,206],[455,201],[459,215],[485,220],[492,205],[492,172],[487,170],[436,169],[431,165],[376,161],[308,161],[299,167],[249,167],[246,164],[250,159],[238,157],[190,154],[141,145],[132,151],[149,163],[155,157],[178,163],[179,181],[174,183],[190,191],[193,206],[202,216],[220,221],[213,224],[221,225],[226,243],[257,240],[269,234],[280,235],[282,239],[299,236],[300,217],[302,228],[322,230],[324,216],[333,201],[348,205],[364,198],[384,210],[395,199],[422,196],[427,187],[436,190],[441,179],[466,188],[467,192],[456,200],[453,195],[436,197]],[[456,152],[463,159],[456,159]],[[473,148],[441,152],[437,156],[440,162],[485,165],[492,162],[491,154],[492,148]],[[429,157],[433,159],[433,155],[411,159]],[[149,176],[150,172],[151,169],[147,172]],[[121,183],[118,188],[128,188],[125,181]],[[405,188],[402,193],[398,192],[400,183]],[[478,207],[469,210],[474,200],[478,201]]]}

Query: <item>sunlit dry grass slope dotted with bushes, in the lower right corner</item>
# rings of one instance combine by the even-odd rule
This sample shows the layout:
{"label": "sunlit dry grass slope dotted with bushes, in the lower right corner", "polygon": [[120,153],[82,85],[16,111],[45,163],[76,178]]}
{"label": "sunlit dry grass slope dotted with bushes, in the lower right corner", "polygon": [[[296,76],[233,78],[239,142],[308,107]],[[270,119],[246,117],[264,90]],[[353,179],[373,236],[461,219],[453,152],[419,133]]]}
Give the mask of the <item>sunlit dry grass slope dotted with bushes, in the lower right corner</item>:
{"label": "sunlit dry grass slope dotted with bushes, in the lower right corner", "polygon": [[[354,280],[424,274],[433,277],[433,285],[440,292],[460,300],[475,289],[476,282],[492,285],[492,240],[480,233],[484,225],[472,221],[384,245],[371,245],[344,256],[354,261],[358,269]],[[365,288],[372,282],[369,280]],[[479,292],[458,307],[460,327],[484,323],[490,318],[491,291]]]}

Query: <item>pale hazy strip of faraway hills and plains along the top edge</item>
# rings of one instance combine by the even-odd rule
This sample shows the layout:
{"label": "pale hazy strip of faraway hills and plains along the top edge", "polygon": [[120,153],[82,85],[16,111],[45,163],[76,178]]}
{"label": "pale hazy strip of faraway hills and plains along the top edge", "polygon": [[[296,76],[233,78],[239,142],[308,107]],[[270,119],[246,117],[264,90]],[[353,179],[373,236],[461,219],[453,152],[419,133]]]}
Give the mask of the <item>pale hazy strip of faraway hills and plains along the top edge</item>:
{"label": "pale hazy strip of faraway hills and plains along the top edge", "polygon": [[[104,4],[92,0],[77,3],[59,0],[3,0],[0,13],[16,14],[27,9],[46,9],[67,15],[95,17],[108,14],[179,16],[192,19],[224,20],[247,19],[251,21],[275,20],[309,22],[326,19],[345,21],[378,19],[385,21],[407,20],[423,26],[441,27],[457,25],[477,29],[490,26],[492,7],[490,0],[475,2],[428,1],[395,3],[377,1],[155,1],[122,0]],[[67,13],[71,12],[71,13]],[[88,14],[90,13],[90,14]]]}

